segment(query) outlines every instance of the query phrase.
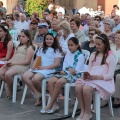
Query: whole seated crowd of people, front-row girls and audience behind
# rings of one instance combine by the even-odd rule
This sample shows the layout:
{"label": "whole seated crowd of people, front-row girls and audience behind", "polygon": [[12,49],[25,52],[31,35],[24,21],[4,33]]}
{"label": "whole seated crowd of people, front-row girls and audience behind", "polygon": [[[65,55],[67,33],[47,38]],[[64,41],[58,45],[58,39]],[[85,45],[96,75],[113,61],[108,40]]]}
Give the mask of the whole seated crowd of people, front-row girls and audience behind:
{"label": "whole seated crowd of people, front-row girls and audience behind", "polygon": [[[56,101],[66,83],[75,83],[81,108],[77,120],[92,117],[94,91],[98,91],[104,102],[113,96],[113,107],[120,107],[118,6],[113,6],[109,16],[103,16],[104,12],[92,16],[79,11],[69,16],[61,6],[57,5],[56,11],[53,8],[54,5],[50,4],[43,11],[42,18],[37,12],[31,16],[15,13],[1,18],[0,80],[7,84],[6,98],[12,98],[14,75],[22,74],[23,82],[36,98],[36,106],[42,103],[41,81],[48,79],[51,99],[40,111],[42,114],[51,114],[59,109]],[[3,11],[5,13],[5,9]],[[19,41],[17,48],[14,41]],[[36,52],[35,45],[38,47]],[[90,52],[87,70],[84,70],[82,49]],[[38,57],[41,57],[41,65],[36,68]],[[83,76],[80,71],[84,72]]]}

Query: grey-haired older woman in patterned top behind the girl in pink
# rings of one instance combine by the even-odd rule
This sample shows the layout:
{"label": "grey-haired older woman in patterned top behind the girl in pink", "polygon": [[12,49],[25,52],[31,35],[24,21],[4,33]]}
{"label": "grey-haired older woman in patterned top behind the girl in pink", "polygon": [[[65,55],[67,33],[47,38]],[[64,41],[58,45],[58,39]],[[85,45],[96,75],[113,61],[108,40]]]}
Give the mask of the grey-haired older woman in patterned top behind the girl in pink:
{"label": "grey-haired older woman in patterned top behind the girl in pink", "polygon": [[115,25],[114,20],[107,18],[104,21],[104,32],[108,36],[110,45],[113,45],[115,43],[115,34],[112,33],[112,29]]}

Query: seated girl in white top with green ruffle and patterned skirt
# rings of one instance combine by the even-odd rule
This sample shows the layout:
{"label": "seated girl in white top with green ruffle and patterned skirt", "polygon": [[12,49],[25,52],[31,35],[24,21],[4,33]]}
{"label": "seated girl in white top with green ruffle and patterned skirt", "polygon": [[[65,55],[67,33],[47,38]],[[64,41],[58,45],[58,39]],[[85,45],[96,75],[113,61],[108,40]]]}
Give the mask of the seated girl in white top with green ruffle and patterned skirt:
{"label": "seated girl in white top with green ruffle and patterned skirt", "polygon": [[84,56],[76,37],[68,40],[69,51],[63,62],[63,70],[48,80],[48,90],[50,92],[50,103],[41,110],[41,113],[54,113],[59,109],[56,99],[61,92],[62,86],[68,83],[74,83],[81,77],[79,71],[84,68]]}

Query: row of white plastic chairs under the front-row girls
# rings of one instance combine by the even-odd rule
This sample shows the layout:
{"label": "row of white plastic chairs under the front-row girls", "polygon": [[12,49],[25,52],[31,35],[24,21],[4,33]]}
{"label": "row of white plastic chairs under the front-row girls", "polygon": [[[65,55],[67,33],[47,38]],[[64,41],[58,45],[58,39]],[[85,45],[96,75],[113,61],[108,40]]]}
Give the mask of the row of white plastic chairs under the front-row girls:
{"label": "row of white plastic chairs under the front-row girls", "polygon": [[[18,44],[19,44],[18,41],[14,41],[14,46],[15,47],[17,47]],[[36,52],[36,50],[37,50],[37,46],[35,45],[35,52]],[[89,59],[89,56],[90,56],[90,53],[87,50],[82,50],[82,53],[85,56],[85,63],[87,63],[87,61]],[[13,80],[13,98],[12,98],[12,102],[13,103],[16,102],[16,93],[17,93],[18,78],[21,79],[21,74],[14,76],[14,80]],[[47,81],[48,81],[47,79],[44,79],[42,81],[42,108],[44,108],[46,106],[46,103],[47,103],[46,102]],[[0,97],[2,95],[4,84],[5,84],[4,81],[2,81],[2,85],[1,85],[1,89],[0,89]],[[74,98],[75,98],[74,97],[74,93],[72,91],[70,91],[70,88],[74,88],[74,87],[75,87],[75,83],[71,83],[71,84],[70,83],[66,83],[64,85],[64,95],[65,95],[65,98],[64,98],[64,115],[68,115],[68,110],[69,110],[69,95],[70,94],[71,94],[71,101],[72,101],[72,103],[74,102]],[[24,87],[24,90],[23,90],[23,96],[22,96],[21,104],[24,103],[25,96],[26,96],[26,93],[27,93],[27,88],[28,87],[25,84],[25,87]],[[50,100],[50,97],[49,97],[49,100]],[[78,106],[78,101],[77,101],[77,98],[76,98],[72,117],[75,116],[75,112],[76,112],[77,106]],[[110,107],[111,116],[114,116],[113,109],[112,109],[111,97],[110,97],[110,100],[109,100],[109,107]],[[100,96],[98,95],[97,92],[95,92],[95,113],[96,113],[96,120],[100,120]]]}

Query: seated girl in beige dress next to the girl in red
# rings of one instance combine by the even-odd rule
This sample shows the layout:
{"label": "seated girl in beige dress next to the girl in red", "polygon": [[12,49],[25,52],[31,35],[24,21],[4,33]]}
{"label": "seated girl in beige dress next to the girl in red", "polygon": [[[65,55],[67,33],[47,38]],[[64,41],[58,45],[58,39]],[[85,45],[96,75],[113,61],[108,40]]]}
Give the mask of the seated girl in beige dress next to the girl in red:
{"label": "seated girl in beige dress next to the girl in red", "polygon": [[13,77],[23,74],[30,67],[31,59],[34,54],[31,36],[28,30],[20,33],[20,44],[18,45],[13,57],[0,68],[0,79],[7,83],[7,98],[12,97]]}

